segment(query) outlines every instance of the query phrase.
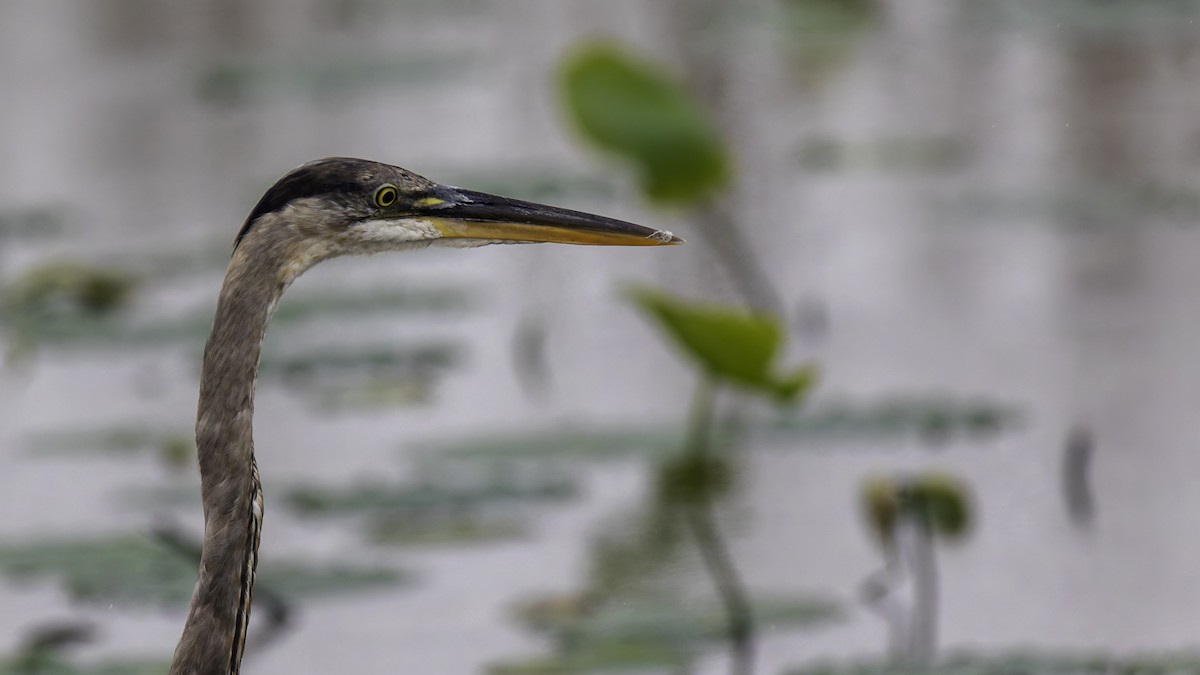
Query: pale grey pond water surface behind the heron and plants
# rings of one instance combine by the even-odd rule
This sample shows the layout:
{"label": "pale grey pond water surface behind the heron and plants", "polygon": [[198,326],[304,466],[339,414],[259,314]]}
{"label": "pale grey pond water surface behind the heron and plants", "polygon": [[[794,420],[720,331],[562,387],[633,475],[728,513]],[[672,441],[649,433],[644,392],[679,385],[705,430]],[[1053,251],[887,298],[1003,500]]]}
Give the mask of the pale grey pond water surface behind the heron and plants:
{"label": "pale grey pond water surface behind the heron and plants", "polygon": [[[623,569],[595,542],[646,544],[648,516],[612,515],[643,503],[654,452],[571,465],[571,498],[552,504],[446,507],[436,536],[395,513],[366,530],[304,520],[283,497],[371,478],[390,490],[380,498],[476,498],[496,484],[422,491],[428,456],[457,446],[461,460],[480,437],[533,438],[539,456],[536,438],[563,429],[683,418],[690,375],[614,288],[644,280],[728,299],[737,280],[718,265],[720,239],[690,216],[641,210],[629,177],[564,131],[556,60],[601,32],[686,73],[716,110],[740,171],[718,215],[740,226],[737,245],[782,305],[821,307],[822,329],[793,346],[822,364],[814,414],[842,400],[851,412],[892,396],[989,401],[980,410],[1003,431],[938,436],[940,454],[917,452],[930,437],[895,419],[899,432],[751,434],[726,514],[743,577],[763,597],[820,591],[846,605],[836,623],[772,634],[760,670],[882,653],[882,627],[854,599],[878,566],[856,498],[868,474],[928,466],[964,479],[977,508],[972,537],[938,551],[944,647],[1195,644],[1198,25],[1192,4],[1165,1],[6,4],[6,297],[44,263],[101,265],[138,285],[128,306],[84,323],[6,313],[0,539],[130,542],[163,518],[198,537],[196,501],[127,497],[194,489],[169,458],[192,425],[223,251],[288,167],[368,156],[692,243],[653,256],[422,251],[302,279],[280,307],[259,393],[263,560],[412,569],[416,583],[299,604],[290,632],[246,670],[472,673],[545,650],[506,613],[586,586],[589,569]],[[58,298],[50,313],[62,298],[108,298],[78,279],[54,288],[38,295]],[[341,405],[294,395],[305,381]],[[913,410],[943,424],[937,406]],[[145,432],[127,444],[164,461],[38,449],[46,434],[121,428]],[[1063,455],[1075,429],[1086,460],[1079,432]],[[641,434],[643,447],[670,449],[661,434]],[[1076,526],[1081,509],[1088,527]],[[601,522],[617,534],[598,534]],[[370,543],[414,538],[460,545]],[[672,563],[683,591],[706,589],[695,562]],[[23,577],[0,586],[0,652],[62,621],[98,627],[91,643],[68,640],[88,662],[157,663],[178,638],[175,607],[74,607],[62,589]],[[724,668],[704,656],[696,671]]]}

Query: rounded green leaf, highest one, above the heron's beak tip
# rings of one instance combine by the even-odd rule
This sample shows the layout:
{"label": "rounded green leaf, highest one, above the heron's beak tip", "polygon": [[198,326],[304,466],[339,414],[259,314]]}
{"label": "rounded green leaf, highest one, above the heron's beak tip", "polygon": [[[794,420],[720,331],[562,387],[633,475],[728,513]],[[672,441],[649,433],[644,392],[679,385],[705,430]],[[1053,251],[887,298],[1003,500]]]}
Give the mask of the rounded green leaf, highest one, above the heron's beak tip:
{"label": "rounded green leaf, highest one, above the heron's beak tip", "polygon": [[575,126],[637,167],[650,199],[696,202],[728,183],[728,153],[715,126],[654,64],[594,42],[565,59],[559,82]]}

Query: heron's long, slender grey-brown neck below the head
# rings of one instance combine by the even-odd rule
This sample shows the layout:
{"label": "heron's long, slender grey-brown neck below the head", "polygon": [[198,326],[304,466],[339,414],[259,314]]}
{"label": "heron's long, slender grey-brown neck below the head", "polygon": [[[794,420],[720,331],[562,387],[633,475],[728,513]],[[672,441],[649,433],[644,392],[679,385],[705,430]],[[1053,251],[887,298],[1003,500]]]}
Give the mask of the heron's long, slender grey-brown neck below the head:
{"label": "heron's long, slender grey-brown neck below the head", "polygon": [[263,338],[298,271],[275,228],[256,228],[234,253],[204,347],[196,449],[204,552],[172,675],[236,675],[258,563],[262,488],[252,419]]}

